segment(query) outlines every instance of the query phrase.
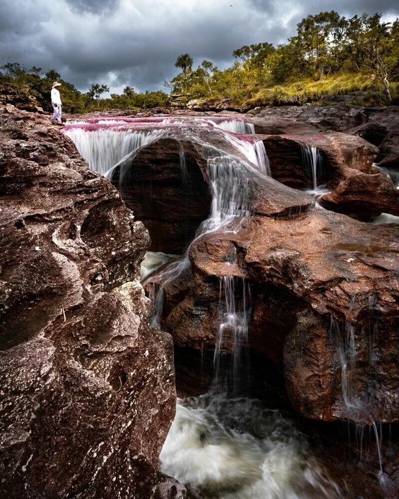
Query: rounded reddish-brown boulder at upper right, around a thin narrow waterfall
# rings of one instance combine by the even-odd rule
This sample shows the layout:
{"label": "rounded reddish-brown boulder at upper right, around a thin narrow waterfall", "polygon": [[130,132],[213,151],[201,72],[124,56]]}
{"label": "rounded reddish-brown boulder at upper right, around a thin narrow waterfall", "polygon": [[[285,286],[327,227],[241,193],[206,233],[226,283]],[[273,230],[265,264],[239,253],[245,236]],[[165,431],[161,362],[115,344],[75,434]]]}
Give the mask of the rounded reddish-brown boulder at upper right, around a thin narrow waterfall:
{"label": "rounded reddish-brown boulder at upper right, around a thin narrow waterfall", "polygon": [[398,190],[373,167],[378,149],[360,137],[339,132],[260,137],[273,178],[296,189],[312,185],[303,154],[306,147],[317,148],[321,155],[318,182],[330,191],[318,198],[324,208],[364,221],[381,213],[399,214]]}

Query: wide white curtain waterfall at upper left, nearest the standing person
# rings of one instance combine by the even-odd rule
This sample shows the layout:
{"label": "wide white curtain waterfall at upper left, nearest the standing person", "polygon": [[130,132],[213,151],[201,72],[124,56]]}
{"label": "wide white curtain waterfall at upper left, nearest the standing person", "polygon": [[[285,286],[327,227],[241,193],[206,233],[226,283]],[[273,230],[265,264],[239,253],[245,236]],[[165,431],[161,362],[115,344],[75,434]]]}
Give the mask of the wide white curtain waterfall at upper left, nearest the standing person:
{"label": "wide white curtain waterfall at upper left, nearest the standing person", "polygon": [[64,133],[73,140],[90,168],[105,175],[129,153],[160,138],[163,130],[142,132],[132,128],[73,126]]}

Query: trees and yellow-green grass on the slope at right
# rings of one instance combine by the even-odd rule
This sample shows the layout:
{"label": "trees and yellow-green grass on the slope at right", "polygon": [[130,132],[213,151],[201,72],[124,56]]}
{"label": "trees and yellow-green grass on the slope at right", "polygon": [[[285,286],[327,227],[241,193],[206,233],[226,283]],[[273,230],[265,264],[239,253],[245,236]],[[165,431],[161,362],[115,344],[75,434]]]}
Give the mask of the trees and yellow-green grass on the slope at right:
{"label": "trees and yellow-green grass on the slope at right", "polygon": [[328,102],[346,93],[354,103],[390,103],[399,97],[399,20],[381,17],[347,19],[334,10],[308,15],[285,44],[244,45],[223,71],[205,60],[165,84],[187,100],[230,97],[242,106]]}

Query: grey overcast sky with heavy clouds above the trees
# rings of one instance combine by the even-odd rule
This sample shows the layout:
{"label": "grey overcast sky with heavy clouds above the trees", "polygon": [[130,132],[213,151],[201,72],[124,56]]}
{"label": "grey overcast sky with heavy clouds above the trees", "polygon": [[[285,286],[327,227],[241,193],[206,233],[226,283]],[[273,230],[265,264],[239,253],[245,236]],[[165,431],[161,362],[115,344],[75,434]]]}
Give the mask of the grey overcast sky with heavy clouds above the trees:
{"label": "grey overcast sky with heavy clouds above the trees", "polygon": [[302,17],[332,8],[399,16],[398,0],[1,0],[0,65],[54,68],[81,91],[163,89],[183,52],[223,68],[235,48],[283,42]]}

